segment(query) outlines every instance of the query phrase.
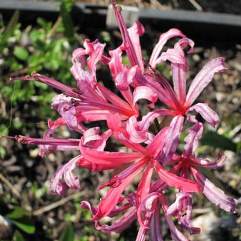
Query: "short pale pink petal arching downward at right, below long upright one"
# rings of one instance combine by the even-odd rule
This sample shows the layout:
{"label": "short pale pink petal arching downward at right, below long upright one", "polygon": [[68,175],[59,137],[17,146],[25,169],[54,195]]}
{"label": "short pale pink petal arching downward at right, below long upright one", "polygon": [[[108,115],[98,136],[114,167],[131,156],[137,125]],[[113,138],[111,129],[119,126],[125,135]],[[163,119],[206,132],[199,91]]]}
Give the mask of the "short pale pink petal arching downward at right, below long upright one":
{"label": "short pale pink petal arching downward at right, below long upright one", "polygon": [[199,113],[202,118],[213,127],[216,127],[219,123],[218,114],[205,103],[198,103],[193,105],[189,110]]}

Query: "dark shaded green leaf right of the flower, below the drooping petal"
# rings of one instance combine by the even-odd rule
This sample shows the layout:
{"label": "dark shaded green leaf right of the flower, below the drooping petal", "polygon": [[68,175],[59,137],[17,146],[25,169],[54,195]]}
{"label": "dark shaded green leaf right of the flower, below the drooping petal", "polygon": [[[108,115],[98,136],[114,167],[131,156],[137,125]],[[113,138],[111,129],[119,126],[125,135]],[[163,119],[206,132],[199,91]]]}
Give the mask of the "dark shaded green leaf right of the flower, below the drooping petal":
{"label": "dark shaded green leaf right of the flower, below the drooping petal", "polygon": [[220,135],[214,131],[207,131],[201,139],[201,144],[220,148],[222,150],[237,151],[236,143],[226,136]]}

